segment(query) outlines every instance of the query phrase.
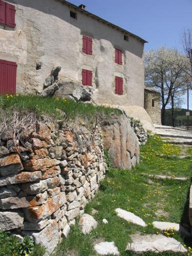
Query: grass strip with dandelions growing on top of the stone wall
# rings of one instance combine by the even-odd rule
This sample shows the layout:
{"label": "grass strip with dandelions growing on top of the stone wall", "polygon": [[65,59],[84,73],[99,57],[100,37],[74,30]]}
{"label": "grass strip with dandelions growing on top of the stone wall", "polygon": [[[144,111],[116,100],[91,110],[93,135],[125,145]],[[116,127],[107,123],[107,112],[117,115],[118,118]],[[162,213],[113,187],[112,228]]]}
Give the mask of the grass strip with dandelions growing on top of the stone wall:
{"label": "grass strip with dandelions growing on top of the stone wall", "polygon": [[[95,118],[110,118],[111,113],[120,113],[118,109],[74,102],[72,99],[39,97],[35,95],[2,95],[0,96],[0,109],[11,112],[15,108],[20,112],[31,111],[37,116],[47,115],[55,119],[66,118],[75,120],[76,117],[95,122]],[[63,114],[64,113],[64,114]],[[66,114],[66,115],[65,115]],[[11,116],[11,113],[10,113]]]}

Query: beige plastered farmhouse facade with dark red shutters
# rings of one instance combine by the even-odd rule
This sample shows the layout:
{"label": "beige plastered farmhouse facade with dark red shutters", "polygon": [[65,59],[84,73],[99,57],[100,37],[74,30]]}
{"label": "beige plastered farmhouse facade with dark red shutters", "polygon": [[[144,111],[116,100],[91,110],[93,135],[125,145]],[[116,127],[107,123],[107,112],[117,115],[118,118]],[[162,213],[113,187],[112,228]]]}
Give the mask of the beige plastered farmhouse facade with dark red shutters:
{"label": "beige plastered farmhouse facade with dark red shutters", "polygon": [[145,42],[83,4],[0,0],[0,93],[41,92],[61,66],[59,79],[91,86],[95,103],[143,107]]}

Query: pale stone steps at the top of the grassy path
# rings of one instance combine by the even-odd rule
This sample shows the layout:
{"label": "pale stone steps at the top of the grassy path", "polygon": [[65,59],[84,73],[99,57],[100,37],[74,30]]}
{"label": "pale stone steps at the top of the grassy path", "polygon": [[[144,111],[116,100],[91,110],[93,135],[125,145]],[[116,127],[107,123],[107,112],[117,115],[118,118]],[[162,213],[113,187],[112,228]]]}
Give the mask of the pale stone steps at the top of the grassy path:
{"label": "pale stone steps at the top of the grassy path", "polygon": [[171,144],[192,145],[192,131],[175,128],[172,126],[154,124],[154,134]]}

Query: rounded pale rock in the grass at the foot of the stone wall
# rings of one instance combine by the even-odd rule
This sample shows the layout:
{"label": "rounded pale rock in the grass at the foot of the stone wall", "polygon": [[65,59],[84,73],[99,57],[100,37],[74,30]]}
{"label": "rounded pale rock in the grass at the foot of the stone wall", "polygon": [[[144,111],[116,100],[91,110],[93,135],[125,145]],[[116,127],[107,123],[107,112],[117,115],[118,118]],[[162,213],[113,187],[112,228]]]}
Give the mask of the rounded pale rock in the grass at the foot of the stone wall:
{"label": "rounded pale rock in the grass at the foot of the stone wall", "polygon": [[97,221],[89,214],[84,213],[79,220],[79,226],[81,227],[82,233],[87,234],[92,229],[96,228]]}

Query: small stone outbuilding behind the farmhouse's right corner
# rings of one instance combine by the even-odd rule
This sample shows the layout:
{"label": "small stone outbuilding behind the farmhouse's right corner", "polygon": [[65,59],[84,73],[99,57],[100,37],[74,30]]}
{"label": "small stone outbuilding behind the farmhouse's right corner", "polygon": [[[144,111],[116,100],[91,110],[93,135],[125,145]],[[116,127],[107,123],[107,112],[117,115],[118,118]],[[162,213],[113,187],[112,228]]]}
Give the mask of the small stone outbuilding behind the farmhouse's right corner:
{"label": "small stone outbuilding behind the farmhouse's right corner", "polygon": [[153,123],[161,124],[160,92],[151,87],[144,87],[144,109]]}

